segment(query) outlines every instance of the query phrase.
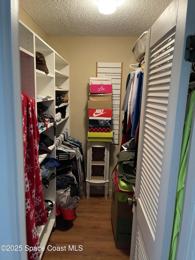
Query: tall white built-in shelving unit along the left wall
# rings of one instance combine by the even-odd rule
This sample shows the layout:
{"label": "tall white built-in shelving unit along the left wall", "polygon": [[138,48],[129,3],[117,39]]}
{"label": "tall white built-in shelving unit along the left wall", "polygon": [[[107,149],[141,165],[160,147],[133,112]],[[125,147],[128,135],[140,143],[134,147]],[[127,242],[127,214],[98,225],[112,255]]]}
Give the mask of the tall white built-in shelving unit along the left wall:
{"label": "tall white built-in shelving unit along the left wall", "polygon": [[[64,130],[69,129],[69,102],[55,106],[55,98],[58,93],[69,93],[69,63],[22,21],[19,21],[19,45],[22,91],[30,98],[35,99],[36,105],[40,102],[46,105],[49,113],[54,118],[59,108],[66,108],[66,117],[57,123],[56,136],[58,136]],[[41,52],[44,55],[49,70],[48,74],[36,69],[36,52]],[[61,89],[55,88],[55,85],[59,85]],[[51,96],[51,98],[37,99],[37,95],[44,97]],[[55,158],[56,149],[53,123],[48,125],[48,130],[49,132],[47,132],[46,127],[44,127],[43,130],[39,130],[39,134],[49,136],[49,138],[54,141],[54,144],[48,147],[51,150],[50,155],[44,154],[39,156],[39,163],[43,162],[47,157]],[[51,231],[55,226],[56,180],[53,179],[50,181],[48,189],[43,186],[43,191],[44,199],[53,201],[54,208],[49,212],[50,214],[46,225],[40,227],[39,242],[41,247],[46,246]],[[41,257],[42,254],[40,259]]]}

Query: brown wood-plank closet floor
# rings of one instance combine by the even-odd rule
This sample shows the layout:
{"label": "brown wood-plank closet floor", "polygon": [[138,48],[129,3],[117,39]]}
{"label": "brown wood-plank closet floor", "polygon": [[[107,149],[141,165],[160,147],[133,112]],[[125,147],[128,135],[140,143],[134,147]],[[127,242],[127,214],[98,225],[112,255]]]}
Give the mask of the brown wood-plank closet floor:
{"label": "brown wood-plank closet floor", "polygon": [[[43,260],[129,260],[129,250],[115,248],[111,224],[111,195],[84,196],[76,209],[76,219],[69,222],[68,230],[62,216],[56,219],[55,231],[51,233],[48,245],[64,247],[66,251],[44,252]],[[82,251],[70,251],[68,247],[81,245]]]}

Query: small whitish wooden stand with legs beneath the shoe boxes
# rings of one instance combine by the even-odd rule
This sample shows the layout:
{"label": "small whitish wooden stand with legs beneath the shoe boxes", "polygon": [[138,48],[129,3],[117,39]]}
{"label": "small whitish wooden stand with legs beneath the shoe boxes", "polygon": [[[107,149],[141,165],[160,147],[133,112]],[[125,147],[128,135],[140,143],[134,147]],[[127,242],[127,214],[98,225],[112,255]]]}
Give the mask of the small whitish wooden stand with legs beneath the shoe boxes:
{"label": "small whitish wooden stand with legs beneath the shoe boxes", "polygon": [[105,200],[108,199],[109,151],[109,142],[87,143],[87,199],[90,197],[90,186],[104,186]]}

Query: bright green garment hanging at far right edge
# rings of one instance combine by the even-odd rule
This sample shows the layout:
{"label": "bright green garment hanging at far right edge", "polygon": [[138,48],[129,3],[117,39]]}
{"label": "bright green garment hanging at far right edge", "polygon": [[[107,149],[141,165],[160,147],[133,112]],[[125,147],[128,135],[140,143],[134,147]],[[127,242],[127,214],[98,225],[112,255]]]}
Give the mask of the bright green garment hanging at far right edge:
{"label": "bright green garment hanging at far right edge", "polygon": [[176,191],[175,212],[174,212],[174,219],[173,219],[172,241],[171,241],[168,260],[175,260],[176,257],[176,248],[177,248],[177,241],[179,235],[182,203],[183,203],[183,190],[184,190],[184,184],[186,178],[186,165],[187,165],[194,101],[195,101],[195,91],[193,91],[192,95],[190,96],[189,112],[183,130],[182,148],[181,148],[180,163],[179,163],[179,176],[178,176],[177,191]]}

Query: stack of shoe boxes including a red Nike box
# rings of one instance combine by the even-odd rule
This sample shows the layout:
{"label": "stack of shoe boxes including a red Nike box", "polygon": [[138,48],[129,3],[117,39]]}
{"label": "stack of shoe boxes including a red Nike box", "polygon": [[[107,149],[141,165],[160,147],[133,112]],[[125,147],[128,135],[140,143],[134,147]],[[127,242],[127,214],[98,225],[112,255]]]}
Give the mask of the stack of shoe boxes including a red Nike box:
{"label": "stack of shoe boxes including a red Nike box", "polygon": [[111,78],[89,78],[88,141],[112,141],[112,84]]}

